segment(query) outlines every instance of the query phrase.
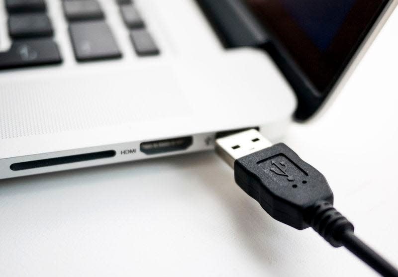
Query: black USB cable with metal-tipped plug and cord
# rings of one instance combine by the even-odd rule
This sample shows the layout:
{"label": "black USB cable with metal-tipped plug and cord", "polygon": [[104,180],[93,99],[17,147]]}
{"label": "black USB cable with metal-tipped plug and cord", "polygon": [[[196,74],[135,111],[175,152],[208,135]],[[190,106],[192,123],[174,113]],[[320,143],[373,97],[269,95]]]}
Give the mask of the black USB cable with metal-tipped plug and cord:
{"label": "black USB cable with metal-tipped plug and cord", "polygon": [[334,247],[345,246],[382,276],[398,271],[354,234],[354,225],[333,207],[325,177],[283,143],[272,145],[251,129],[216,140],[217,154],[235,182],[274,219],[298,230],[312,227]]}

